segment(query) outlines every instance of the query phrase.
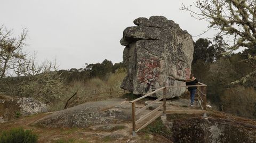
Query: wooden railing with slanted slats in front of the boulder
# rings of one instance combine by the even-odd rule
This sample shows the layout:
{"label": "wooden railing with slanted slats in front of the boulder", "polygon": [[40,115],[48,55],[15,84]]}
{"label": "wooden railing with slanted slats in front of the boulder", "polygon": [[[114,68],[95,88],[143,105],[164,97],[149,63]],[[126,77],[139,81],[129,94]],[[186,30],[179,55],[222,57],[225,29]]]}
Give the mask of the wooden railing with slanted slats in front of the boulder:
{"label": "wooden railing with slanted slats in front of the boulder", "polygon": [[[159,116],[161,116],[163,114],[166,114],[166,113],[172,113],[170,111],[166,111],[166,90],[168,88],[197,87],[197,89],[198,89],[198,92],[197,92],[197,94],[198,94],[198,97],[197,97],[198,98],[198,103],[201,106],[202,110],[206,110],[206,85],[204,85],[201,82],[198,82],[198,84],[199,85],[195,85],[195,86],[167,86],[167,87],[162,87],[162,88],[159,88],[159,89],[157,89],[157,90],[155,90],[153,92],[150,92],[149,94],[141,96],[140,98],[132,100],[130,103],[132,104],[132,134],[133,134],[133,136],[135,136],[138,131],[140,131],[143,128],[147,127],[148,124],[150,124],[151,122],[156,120],[157,117],[159,117]],[[153,102],[147,104],[146,106],[144,106],[144,107],[140,108],[138,111],[136,111],[136,102],[138,102],[139,100],[141,100],[143,98],[146,98],[146,97],[148,97],[150,95],[153,95],[156,92],[160,92],[160,91],[163,91],[163,96],[157,98]],[[158,107],[155,108],[155,110],[150,111],[146,115],[141,116],[140,119],[136,120],[136,116],[138,114],[142,113],[148,107],[150,107],[151,105],[155,104],[156,102],[159,102],[160,100],[163,100],[163,104],[159,105]],[[157,114],[154,115],[155,113],[157,113]],[[145,124],[142,124],[141,127],[139,127],[139,129],[137,129],[138,124],[141,123],[142,121],[145,121],[146,119],[148,119],[148,121]]]}

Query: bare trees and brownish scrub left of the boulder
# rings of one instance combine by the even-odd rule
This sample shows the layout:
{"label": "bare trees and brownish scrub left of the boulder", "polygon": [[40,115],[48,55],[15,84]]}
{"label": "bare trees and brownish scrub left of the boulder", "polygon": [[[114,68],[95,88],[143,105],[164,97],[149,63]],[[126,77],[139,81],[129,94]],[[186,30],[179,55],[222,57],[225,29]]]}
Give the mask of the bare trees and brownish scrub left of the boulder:
{"label": "bare trees and brownish scrub left of the boulder", "polygon": [[86,96],[87,90],[119,87],[126,74],[122,63],[108,60],[70,70],[59,70],[57,60],[38,64],[36,54],[23,50],[26,37],[26,29],[17,38],[0,27],[0,92],[6,95],[33,97],[50,105],[50,111],[61,110],[75,92]]}

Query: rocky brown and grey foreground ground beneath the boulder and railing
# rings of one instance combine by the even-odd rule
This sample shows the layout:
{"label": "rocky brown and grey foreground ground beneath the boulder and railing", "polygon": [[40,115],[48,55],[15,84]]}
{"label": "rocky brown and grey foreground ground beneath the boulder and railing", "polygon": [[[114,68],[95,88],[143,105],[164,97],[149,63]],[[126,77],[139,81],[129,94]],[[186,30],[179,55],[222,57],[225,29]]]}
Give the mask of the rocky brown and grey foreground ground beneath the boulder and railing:
{"label": "rocky brown and grey foreground ground beneath the boulder and railing", "polygon": [[[137,109],[153,99],[137,103]],[[157,103],[161,104],[161,102]],[[167,100],[167,110],[194,113],[188,99]],[[141,115],[154,110],[149,110]],[[185,112],[184,112],[185,113]],[[256,121],[208,109],[202,114],[167,114],[159,117],[137,136],[132,136],[129,99],[114,98],[88,102],[59,112],[41,113],[1,123],[0,131],[13,127],[33,130],[39,142],[255,142]],[[137,116],[138,118],[139,116]],[[239,136],[237,136],[239,134]],[[208,140],[207,140],[208,139]]]}

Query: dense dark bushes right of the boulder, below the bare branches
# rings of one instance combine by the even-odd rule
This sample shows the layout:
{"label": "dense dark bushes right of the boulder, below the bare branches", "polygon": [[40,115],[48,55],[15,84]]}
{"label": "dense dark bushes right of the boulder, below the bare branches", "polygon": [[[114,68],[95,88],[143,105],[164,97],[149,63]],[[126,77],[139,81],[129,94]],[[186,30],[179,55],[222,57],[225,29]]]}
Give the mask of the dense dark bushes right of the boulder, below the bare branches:
{"label": "dense dark bushes right of the boulder, below the bare branches", "polygon": [[218,51],[225,51],[226,45],[224,41],[218,43],[221,44],[212,44],[212,41],[202,38],[196,41],[192,72],[207,85],[207,99],[219,110],[255,119],[255,75],[252,74],[243,83],[232,84],[252,73],[254,63],[247,61],[247,50],[225,56],[217,54]]}

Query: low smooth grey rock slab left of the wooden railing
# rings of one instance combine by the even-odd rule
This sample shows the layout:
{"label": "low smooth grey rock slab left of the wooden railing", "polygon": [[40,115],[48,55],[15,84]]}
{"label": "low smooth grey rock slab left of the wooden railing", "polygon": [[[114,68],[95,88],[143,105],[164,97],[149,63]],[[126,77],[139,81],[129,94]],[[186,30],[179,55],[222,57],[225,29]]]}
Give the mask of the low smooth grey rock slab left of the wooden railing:
{"label": "low smooth grey rock slab left of the wooden railing", "polygon": [[[43,127],[90,127],[131,119],[130,103],[122,98],[88,102],[47,115],[34,124]],[[131,106],[131,105],[130,105]]]}

